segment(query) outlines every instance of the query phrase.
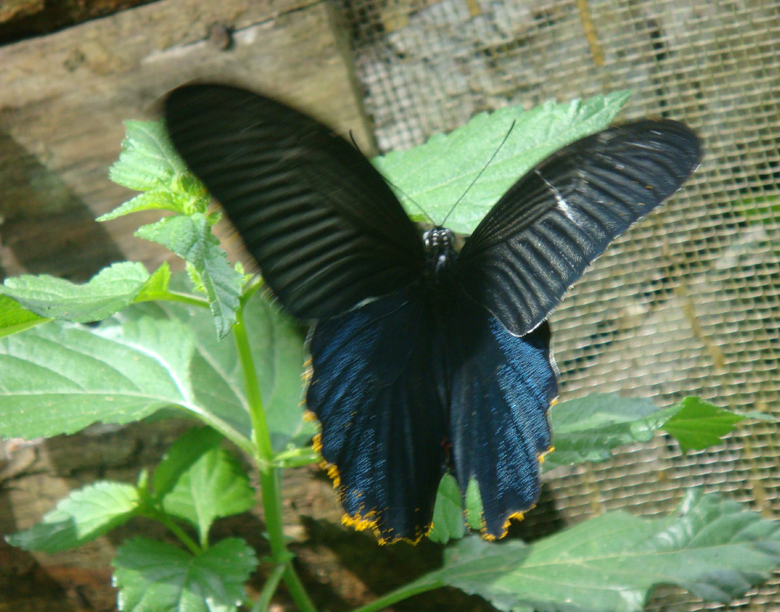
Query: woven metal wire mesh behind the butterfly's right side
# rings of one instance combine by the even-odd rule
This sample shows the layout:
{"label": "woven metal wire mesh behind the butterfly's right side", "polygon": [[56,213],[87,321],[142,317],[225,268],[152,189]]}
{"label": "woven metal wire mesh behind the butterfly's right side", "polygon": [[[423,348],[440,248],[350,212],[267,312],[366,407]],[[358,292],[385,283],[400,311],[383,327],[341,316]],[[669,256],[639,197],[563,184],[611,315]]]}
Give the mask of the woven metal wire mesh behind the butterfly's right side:
{"label": "woven metal wire mesh behind the butterfly's right side", "polygon": [[[562,397],[698,394],[780,412],[780,3],[770,0],[346,0],[382,151],[479,111],[633,90],[623,119],[681,119],[706,157],[686,188],[608,250],[552,317]],[[558,470],[525,532],[615,508],[675,508],[704,486],[780,513],[780,432],[714,451],[654,443]],[[780,575],[730,607],[659,589],[648,610],[780,610]]]}

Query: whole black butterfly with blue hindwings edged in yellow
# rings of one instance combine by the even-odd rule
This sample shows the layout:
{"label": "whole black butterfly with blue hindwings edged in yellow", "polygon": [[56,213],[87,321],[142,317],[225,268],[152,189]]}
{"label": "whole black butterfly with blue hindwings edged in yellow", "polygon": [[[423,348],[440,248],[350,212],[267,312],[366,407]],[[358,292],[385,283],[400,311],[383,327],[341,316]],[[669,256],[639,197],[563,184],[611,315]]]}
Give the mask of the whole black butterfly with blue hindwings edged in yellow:
{"label": "whole black butterfly with blue hindwings edged in yellow", "polygon": [[489,538],[534,505],[557,394],[545,319],[700,159],[679,122],[605,129],[519,179],[457,253],[448,229],[420,236],[358,150],[284,104],[188,85],[165,122],[272,292],[316,321],[315,442],[345,522],[382,541],[430,529],[448,470],[464,493],[477,480]]}

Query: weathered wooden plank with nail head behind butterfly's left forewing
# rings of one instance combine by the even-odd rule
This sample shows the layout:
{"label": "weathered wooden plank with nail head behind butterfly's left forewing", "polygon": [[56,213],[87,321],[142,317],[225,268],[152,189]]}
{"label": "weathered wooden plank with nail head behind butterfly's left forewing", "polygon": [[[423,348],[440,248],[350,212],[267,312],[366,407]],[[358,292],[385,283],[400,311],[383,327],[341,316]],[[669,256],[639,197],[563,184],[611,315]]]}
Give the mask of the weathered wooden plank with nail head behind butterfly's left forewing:
{"label": "weathered wooden plank with nail head behind butterfly's left forewing", "polygon": [[[3,273],[83,279],[114,260],[168,257],[132,238],[140,214],[91,219],[132,195],[107,178],[122,120],[154,118],[161,95],[188,80],[283,97],[371,150],[334,21],[326,2],[163,0],[0,48]],[[208,37],[213,23],[234,30],[228,48]]]}

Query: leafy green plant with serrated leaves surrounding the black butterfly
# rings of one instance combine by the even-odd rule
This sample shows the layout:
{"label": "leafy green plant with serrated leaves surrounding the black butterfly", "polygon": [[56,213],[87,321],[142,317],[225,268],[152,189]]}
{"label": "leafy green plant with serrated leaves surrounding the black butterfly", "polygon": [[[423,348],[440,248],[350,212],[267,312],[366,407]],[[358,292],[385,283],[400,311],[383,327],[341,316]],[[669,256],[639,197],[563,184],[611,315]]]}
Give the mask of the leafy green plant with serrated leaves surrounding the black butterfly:
{"label": "leafy green plant with serrated leaves surrounding the black butterfly", "polygon": [[[376,163],[442,218],[441,211],[466,191],[504,136],[498,120],[514,117],[517,125],[502,158],[484,172],[448,224],[467,233],[517,175],[562,144],[608,125],[627,97],[620,92],[480,115],[449,136]],[[246,599],[243,583],[257,558],[243,539],[212,542],[209,534],[215,519],[252,508],[254,491],[235,456],[221,446],[226,438],[253,459],[260,476],[272,570],[253,610],[267,610],[282,581],[300,610],[314,610],[282,534],[280,489],[282,469],[317,462],[310,447],[314,426],[302,419],[299,405],[303,331],[263,298],[259,278],[228,263],[211,233],[219,215],[207,210],[207,193],[167,143],[161,125],[128,122],[124,148],[112,179],[143,193],[101,219],[171,211],[137,235],[183,257],[189,279],[172,277],[167,264],[148,274],[142,265],[125,262],[85,285],[48,276],[5,281],[0,435],[72,433],[95,422],[144,419],[169,407],[207,426],[186,433],[135,485],[101,481],[73,491],[40,523],[7,539],[28,550],[63,550],[135,516],[152,518],[181,546],[137,537],[119,547],[114,577],[120,609],[236,610]],[[83,325],[94,321],[99,323]],[[659,429],[683,450],[707,448],[743,418],[698,398],[663,410],[611,394],[561,402],[552,411],[556,450],[544,467],[603,461],[612,449],[650,440]],[[442,585],[477,593],[502,610],[640,610],[658,583],[727,601],[763,582],[780,564],[775,522],[700,491],[686,493],[668,518],[609,512],[530,545],[468,536],[466,524],[480,529],[480,500],[472,487],[466,508],[461,500],[455,480],[445,476],[430,534],[443,544],[455,540],[443,567],[360,612]]]}

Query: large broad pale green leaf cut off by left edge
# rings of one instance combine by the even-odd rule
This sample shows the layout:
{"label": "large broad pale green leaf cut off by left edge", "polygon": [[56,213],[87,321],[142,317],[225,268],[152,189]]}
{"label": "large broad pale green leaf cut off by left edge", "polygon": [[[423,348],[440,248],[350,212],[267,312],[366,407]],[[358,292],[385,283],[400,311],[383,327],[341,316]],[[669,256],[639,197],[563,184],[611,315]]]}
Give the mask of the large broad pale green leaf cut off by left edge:
{"label": "large broad pale green leaf cut off by left edge", "polygon": [[0,437],[129,423],[168,405],[200,413],[193,349],[181,322],[149,317],[97,330],[54,321],[0,338]]}

